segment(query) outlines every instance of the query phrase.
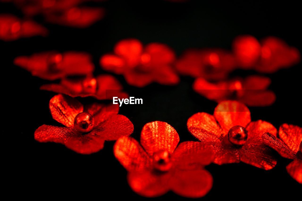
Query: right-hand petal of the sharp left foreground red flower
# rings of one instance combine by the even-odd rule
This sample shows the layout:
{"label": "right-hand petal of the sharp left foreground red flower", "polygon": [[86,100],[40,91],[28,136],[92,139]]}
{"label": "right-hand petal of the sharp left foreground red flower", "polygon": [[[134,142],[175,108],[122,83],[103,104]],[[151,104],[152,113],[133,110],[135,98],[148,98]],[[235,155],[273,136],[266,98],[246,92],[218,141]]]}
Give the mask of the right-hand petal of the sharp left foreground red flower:
{"label": "right-hand petal of the sharp left foreground red flower", "polygon": [[95,133],[105,140],[117,140],[130,136],[133,132],[132,122],[124,115],[110,116],[104,122],[95,126]]}

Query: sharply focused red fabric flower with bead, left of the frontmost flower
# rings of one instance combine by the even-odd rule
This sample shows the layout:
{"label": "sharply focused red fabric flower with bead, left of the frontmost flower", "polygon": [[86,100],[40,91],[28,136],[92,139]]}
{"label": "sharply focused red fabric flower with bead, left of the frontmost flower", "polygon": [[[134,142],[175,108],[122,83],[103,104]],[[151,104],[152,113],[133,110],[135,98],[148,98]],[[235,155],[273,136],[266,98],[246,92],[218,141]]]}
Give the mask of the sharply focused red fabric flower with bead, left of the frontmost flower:
{"label": "sharply focused red fabric flower with bead, left of the frontmost flower", "polygon": [[66,127],[40,126],[35,139],[61,143],[80,154],[98,152],[105,140],[117,140],[133,132],[130,120],[117,114],[117,105],[95,103],[84,107],[76,99],[59,94],[50,100],[49,108],[53,119]]}

